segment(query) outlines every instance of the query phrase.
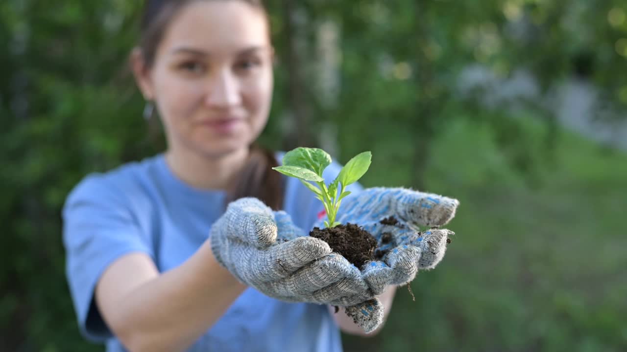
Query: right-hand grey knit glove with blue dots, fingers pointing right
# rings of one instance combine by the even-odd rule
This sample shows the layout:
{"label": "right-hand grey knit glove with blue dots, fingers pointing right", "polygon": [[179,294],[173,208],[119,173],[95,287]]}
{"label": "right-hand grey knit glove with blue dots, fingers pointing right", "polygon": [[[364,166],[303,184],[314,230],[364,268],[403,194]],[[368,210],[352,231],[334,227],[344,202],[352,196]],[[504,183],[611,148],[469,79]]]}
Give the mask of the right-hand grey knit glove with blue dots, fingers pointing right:
{"label": "right-hand grey knit glove with blue dots, fingers pointing right", "polygon": [[[444,257],[449,236],[438,229],[455,216],[459,201],[441,195],[409,189],[376,187],[347,197],[337,221],[360,225],[377,240],[375,261],[361,269],[373,295],[387,285],[401,285],[414,279],[418,269],[433,269]],[[431,227],[424,232],[419,226]],[[377,298],[346,308],[346,314],[362,327],[376,328],[382,320]]]}

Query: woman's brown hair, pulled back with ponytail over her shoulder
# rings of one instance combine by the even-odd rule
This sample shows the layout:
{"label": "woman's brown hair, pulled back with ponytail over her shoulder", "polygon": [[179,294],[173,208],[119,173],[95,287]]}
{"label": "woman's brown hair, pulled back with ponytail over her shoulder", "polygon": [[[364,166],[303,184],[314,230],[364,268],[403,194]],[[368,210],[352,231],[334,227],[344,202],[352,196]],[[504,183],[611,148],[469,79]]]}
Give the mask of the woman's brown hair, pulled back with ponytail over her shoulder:
{"label": "woman's brown hair, pulled back with ponytail over her shoulder", "polygon": [[[139,48],[146,66],[154,63],[155,53],[172,18],[187,4],[203,0],[147,0],[140,27]],[[208,1],[208,0],[204,0]],[[217,0],[213,0],[217,1]],[[226,0],[222,0],[226,1]],[[261,0],[238,0],[260,9],[267,18]],[[269,21],[268,21],[269,25]],[[268,33],[269,35],[269,33]],[[242,197],[256,197],[274,210],[283,208],[283,177],[272,170],[278,166],[274,152],[257,143],[250,145],[248,162],[226,190],[226,204]],[[225,205],[226,205],[225,204]]]}

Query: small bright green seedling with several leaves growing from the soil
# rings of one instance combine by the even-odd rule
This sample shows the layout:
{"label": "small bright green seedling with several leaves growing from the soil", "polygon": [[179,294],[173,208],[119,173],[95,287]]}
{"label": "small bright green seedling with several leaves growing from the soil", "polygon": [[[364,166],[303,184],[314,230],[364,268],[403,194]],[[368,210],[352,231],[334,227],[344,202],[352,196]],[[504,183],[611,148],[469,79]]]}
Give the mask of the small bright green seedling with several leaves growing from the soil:
{"label": "small bright green seedling with several leaves growing from the soil", "polygon": [[350,194],[350,191],[345,190],[346,187],[361,179],[370,167],[371,159],[371,152],[357,154],[344,165],[339,175],[328,187],[324,183],[322,172],[330,165],[331,156],[320,148],[298,147],[290,150],[283,156],[283,165],[273,167],[273,170],[300,179],[300,182],[314,192],[316,198],[324,204],[327,212],[324,225],[335,227],[340,224],[335,219],[342,199]]}

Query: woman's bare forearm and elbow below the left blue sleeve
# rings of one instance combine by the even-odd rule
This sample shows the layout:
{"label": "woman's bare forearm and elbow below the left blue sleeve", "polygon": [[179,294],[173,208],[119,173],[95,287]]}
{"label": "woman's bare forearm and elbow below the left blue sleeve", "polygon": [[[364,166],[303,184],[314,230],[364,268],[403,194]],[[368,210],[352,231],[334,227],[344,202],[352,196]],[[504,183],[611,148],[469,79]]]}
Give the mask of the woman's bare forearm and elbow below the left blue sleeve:
{"label": "woman's bare forearm and elbow below the left blue sleeve", "polygon": [[96,303],[131,351],[182,351],[224,314],[246,286],[219,266],[209,241],[159,274],[145,254],[120,257],[103,273]]}

